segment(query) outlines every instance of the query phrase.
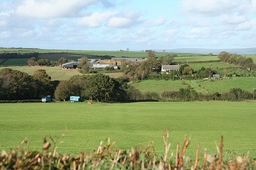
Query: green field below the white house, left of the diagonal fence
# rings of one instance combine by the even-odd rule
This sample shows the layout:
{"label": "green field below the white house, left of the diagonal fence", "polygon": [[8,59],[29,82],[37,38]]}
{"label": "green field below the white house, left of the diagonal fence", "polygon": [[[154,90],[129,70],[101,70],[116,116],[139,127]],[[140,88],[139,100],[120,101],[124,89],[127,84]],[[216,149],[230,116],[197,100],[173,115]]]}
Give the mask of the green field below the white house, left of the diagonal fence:
{"label": "green field below the white house, left of the diagonal fence", "polygon": [[[164,91],[175,90],[178,91],[180,88],[187,88],[190,83],[189,80],[185,80],[186,84],[182,84],[180,80],[143,80],[134,81],[131,85],[138,88],[141,92],[156,92],[161,94]],[[192,86],[192,84],[191,84]],[[202,92],[196,86],[192,87],[196,92]]]}

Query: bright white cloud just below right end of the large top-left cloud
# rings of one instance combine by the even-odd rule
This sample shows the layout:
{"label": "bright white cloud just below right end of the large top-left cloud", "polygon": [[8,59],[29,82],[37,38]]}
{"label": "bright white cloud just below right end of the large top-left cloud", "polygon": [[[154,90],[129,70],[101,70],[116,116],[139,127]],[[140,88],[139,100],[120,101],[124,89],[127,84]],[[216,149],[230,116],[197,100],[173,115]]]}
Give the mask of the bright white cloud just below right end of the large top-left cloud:
{"label": "bright white cloud just below right end of the large top-left cloud", "polygon": [[105,21],[107,21],[110,16],[112,16],[116,13],[117,12],[111,12],[111,11],[107,11],[107,12],[103,12],[103,13],[95,12],[91,16],[78,18],[76,20],[76,23],[80,27],[90,27],[90,28],[101,27],[102,24]]}

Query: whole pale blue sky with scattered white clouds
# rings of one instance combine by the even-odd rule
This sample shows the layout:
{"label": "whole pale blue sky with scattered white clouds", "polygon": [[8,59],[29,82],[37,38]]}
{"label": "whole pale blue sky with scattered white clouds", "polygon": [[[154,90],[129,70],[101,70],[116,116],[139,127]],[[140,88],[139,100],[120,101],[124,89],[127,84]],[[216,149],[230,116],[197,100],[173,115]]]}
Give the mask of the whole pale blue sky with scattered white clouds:
{"label": "whole pale blue sky with scattered white clouds", "polygon": [[253,48],[256,0],[0,0],[0,47]]}

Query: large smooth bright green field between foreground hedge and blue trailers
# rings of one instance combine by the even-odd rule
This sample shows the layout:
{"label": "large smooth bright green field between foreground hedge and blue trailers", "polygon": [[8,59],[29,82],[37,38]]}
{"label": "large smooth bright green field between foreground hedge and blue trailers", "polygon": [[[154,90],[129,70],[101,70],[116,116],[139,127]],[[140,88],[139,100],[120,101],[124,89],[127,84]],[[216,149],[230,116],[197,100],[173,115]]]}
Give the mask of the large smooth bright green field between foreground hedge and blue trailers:
{"label": "large smooth bright green field between foreground hedge and blue trailers", "polygon": [[[196,146],[217,153],[224,137],[224,152],[255,156],[256,105],[252,102],[138,102],[114,104],[18,103],[0,104],[0,149],[15,148],[26,137],[30,150],[42,149],[42,137],[60,134],[57,152],[78,154],[98,149],[110,137],[115,148],[130,149],[154,141],[158,155],[164,153],[162,133],[169,135],[170,152],[190,138],[186,155],[194,158]],[[49,140],[49,139],[48,139]],[[26,144],[23,145],[26,147]]]}

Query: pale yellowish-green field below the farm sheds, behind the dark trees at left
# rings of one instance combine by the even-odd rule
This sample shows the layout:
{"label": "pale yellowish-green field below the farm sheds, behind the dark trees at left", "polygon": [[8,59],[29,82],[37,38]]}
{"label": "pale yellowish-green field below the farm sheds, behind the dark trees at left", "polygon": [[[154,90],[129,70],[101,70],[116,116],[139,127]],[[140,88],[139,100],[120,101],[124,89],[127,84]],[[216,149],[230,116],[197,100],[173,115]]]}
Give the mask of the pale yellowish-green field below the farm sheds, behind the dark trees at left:
{"label": "pale yellowish-green field below the farm sheds, behind the dark trees at left", "polygon": [[[12,68],[14,70],[19,70],[22,72],[26,72],[29,75],[32,75],[36,70],[38,69],[44,69],[46,70],[46,73],[51,76],[51,80],[68,80],[70,77],[80,74],[78,69],[62,69],[62,67],[40,67],[40,66],[35,66],[35,67],[28,67],[28,66],[10,66],[10,67],[0,67],[0,69],[3,68]],[[104,73],[110,77],[117,78],[122,76],[122,72],[118,73]]]}

